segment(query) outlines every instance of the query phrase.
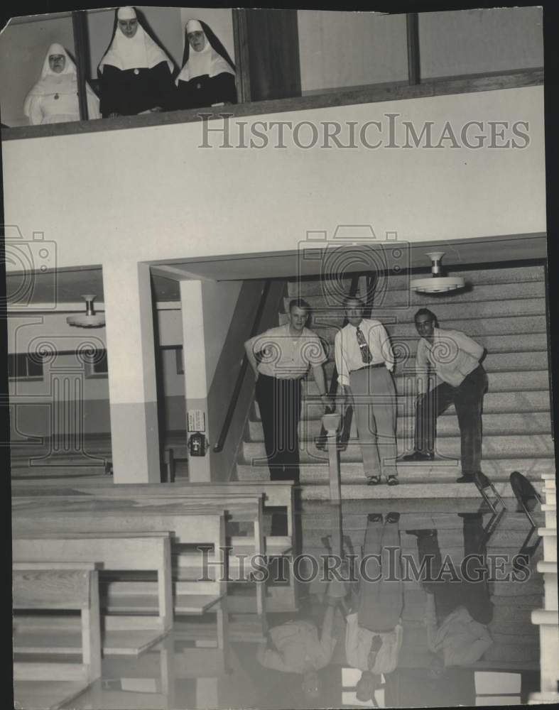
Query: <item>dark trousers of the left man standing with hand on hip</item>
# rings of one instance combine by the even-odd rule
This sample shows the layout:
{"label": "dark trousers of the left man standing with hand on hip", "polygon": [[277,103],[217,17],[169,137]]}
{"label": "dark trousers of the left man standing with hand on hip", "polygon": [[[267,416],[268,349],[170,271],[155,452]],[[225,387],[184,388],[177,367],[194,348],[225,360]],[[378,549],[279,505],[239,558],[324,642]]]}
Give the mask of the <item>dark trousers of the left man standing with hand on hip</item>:
{"label": "dark trousers of the left man standing with hand on hip", "polygon": [[260,374],[256,380],[264,445],[272,481],[299,481],[301,380]]}

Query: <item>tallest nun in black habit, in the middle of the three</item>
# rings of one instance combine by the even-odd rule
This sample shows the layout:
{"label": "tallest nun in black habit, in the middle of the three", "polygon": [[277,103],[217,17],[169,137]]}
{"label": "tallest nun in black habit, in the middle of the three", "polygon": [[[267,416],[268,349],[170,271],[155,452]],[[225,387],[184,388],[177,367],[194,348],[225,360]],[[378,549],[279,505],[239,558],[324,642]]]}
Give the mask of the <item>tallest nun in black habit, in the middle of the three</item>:
{"label": "tallest nun in black habit, in the middle of the three", "polygon": [[103,118],[169,108],[173,62],[133,7],[116,11],[112,40],[97,70]]}

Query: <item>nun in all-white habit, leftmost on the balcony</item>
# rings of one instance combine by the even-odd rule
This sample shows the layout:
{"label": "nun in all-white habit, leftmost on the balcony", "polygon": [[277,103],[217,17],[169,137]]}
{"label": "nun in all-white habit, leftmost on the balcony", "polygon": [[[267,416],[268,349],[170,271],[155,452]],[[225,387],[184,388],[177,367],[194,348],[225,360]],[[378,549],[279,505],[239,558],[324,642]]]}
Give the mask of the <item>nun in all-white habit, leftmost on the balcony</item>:
{"label": "nun in all-white habit, leftmost on the balcony", "polygon": [[[87,116],[99,119],[99,99],[85,84]],[[76,65],[63,45],[51,44],[45,55],[40,79],[23,102],[23,113],[32,126],[80,120]]]}

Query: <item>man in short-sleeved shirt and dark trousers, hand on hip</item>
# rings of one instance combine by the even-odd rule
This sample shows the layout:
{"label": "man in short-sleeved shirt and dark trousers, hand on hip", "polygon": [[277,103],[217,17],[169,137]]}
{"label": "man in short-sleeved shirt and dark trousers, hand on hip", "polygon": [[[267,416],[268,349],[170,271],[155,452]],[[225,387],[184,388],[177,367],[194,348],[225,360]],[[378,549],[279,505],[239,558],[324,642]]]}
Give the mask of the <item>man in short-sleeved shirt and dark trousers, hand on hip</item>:
{"label": "man in short-sleeved shirt and dark trousers, hand on hip", "polygon": [[298,481],[301,381],[309,367],[322,403],[326,406],[329,402],[322,369],[326,355],[318,335],[305,327],[309,311],[303,299],[292,300],[285,325],[266,330],[244,344],[256,375],[256,401],[272,481]]}

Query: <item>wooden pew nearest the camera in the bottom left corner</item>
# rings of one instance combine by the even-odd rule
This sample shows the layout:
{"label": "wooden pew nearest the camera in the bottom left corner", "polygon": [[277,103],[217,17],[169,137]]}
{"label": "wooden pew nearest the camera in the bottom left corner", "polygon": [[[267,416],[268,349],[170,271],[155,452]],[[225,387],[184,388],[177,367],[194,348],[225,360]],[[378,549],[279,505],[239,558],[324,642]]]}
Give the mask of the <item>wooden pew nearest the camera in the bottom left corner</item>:
{"label": "wooden pew nearest the camera in the bottom left corner", "polygon": [[80,611],[81,663],[13,664],[16,706],[58,708],[101,675],[99,591],[94,564],[13,563],[13,608]]}

